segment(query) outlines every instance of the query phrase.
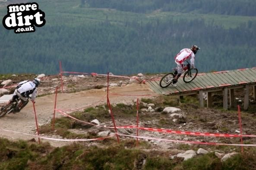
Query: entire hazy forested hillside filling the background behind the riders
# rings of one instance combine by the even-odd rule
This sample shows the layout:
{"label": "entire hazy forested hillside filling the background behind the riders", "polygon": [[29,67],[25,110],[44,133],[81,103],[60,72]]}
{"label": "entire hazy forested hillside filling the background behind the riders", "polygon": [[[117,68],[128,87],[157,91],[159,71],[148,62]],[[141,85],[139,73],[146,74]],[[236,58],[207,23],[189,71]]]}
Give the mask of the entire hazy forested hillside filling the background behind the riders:
{"label": "entire hazy forested hillside filling the background behind the riders", "polygon": [[1,24],[0,73],[56,74],[59,60],[68,71],[168,72],[174,55],[193,44],[201,47],[200,72],[256,66],[253,0],[105,2],[38,0],[46,24],[35,33]]}

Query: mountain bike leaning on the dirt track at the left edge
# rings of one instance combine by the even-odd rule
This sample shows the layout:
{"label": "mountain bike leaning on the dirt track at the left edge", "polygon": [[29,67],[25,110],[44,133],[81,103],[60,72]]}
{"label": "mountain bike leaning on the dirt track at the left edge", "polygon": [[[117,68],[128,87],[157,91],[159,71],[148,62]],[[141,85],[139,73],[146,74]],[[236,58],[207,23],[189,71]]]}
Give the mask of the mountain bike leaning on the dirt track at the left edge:
{"label": "mountain bike leaning on the dirt track at the left edge", "polygon": [[23,107],[25,107],[28,104],[28,100],[23,101],[22,105],[19,108],[20,102],[22,102],[22,100],[20,98],[18,98],[14,102],[12,102],[6,106],[3,106],[0,109],[0,117],[3,117],[4,115],[10,114],[10,113],[20,112],[20,110],[23,109]]}

